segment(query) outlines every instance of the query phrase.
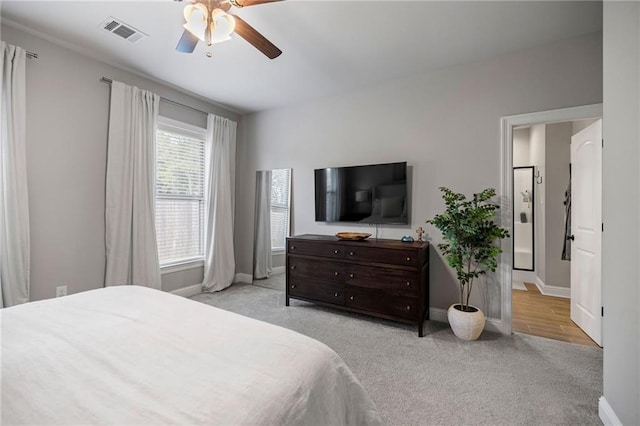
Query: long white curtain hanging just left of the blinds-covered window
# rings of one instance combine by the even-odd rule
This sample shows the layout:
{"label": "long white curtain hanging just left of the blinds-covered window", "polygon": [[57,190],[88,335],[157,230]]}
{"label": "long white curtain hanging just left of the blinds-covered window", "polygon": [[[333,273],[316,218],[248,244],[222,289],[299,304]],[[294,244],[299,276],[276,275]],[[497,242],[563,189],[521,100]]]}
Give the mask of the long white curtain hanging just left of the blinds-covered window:
{"label": "long white curtain hanging just left of the blinds-covered window", "polygon": [[111,84],[105,285],[160,288],[155,233],[155,134],[160,97]]}

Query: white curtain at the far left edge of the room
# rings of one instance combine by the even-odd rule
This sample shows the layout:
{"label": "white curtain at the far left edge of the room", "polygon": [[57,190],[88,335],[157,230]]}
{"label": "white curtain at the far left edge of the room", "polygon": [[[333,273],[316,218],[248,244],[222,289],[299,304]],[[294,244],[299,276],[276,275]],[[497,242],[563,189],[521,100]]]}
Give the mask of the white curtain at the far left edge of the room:
{"label": "white curtain at the far left edge of the room", "polygon": [[0,307],[29,301],[24,49],[2,42],[0,55]]}

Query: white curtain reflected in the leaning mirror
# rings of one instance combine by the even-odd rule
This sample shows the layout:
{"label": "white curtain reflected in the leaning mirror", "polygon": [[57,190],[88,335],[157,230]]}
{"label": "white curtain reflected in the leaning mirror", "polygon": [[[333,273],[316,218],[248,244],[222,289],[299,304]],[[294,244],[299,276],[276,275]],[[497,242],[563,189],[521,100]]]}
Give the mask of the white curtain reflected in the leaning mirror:
{"label": "white curtain reflected in the leaning mirror", "polygon": [[253,277],[269,278],[271,256],[271,170],[256,173],[256,229],[254,233]]}

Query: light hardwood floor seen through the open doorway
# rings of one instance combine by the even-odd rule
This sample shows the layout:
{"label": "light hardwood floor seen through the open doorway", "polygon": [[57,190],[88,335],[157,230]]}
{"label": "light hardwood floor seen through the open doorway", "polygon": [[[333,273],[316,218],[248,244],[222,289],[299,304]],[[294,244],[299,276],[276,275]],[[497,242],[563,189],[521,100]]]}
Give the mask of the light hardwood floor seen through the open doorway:
{"label": "light hardwood floor seen through the open doorway", "polygon": [[513,290],[513,331],[580,345],[598,345],[569,318],[569,299],[545,296],[535,284]]}

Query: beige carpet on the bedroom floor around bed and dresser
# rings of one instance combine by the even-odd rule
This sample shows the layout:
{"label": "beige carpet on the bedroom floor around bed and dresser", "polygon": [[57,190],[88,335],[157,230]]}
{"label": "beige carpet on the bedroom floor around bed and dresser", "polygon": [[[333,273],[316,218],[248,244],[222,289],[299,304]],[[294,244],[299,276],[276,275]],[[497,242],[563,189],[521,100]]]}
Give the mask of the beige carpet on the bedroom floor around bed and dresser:
{"label": "beige carpet on the bedroom floor around bed and dresser", "polygon": [[[192,299],[313,337],[353,370],[388,425],[600,425],[602,350],[484,332],[475,342],[449,326],[415,327],[234,284]],[[286,365],[281,366],[286,368]]]}

